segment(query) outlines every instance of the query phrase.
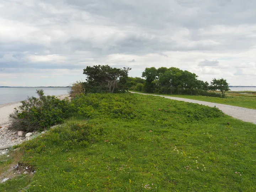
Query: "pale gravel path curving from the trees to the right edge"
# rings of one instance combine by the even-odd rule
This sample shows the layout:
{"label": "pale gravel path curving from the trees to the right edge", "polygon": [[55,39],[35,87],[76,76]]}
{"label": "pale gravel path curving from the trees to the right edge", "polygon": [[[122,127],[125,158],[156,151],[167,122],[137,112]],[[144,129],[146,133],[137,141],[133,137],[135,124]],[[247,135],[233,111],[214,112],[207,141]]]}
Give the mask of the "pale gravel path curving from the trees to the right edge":
{"label": "pale gravel path curving from the trees to the right edge", "polygon": [[[142,94],[142,95],[153,95],[153,94],[143,94],[143,93],[137,93],[137,92],[131,92],[134,94]],[[172,100],[178,100],[178,101],[185,101],[190,103],[198,103],[202,105],[206,105],[209,107],[218,107],[220,110],[222,110],[225,114],[234,117],[236,119],[240,119],[242,121],[251,122],[256,124],[256,110],[248,109],[244,107],[236,107],[232,105],[224,105],[219,103],[211,103],[207,101],[198,101],[193,99],[187,99],[187,98],[180,98],[180,97],[170,97],[170,96],[163,96],[163,95],[153,95],[153,96],[160,96],[169,98]]]}

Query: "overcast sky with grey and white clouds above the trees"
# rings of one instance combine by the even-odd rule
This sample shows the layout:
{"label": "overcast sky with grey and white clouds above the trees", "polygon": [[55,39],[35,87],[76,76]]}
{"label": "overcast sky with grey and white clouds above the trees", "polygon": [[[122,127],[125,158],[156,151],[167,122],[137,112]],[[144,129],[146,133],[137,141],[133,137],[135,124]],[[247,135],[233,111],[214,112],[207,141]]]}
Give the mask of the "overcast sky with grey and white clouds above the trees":
{"label": "overcast sky with grey and white clouds above the trees", "polygon": [[108,64],[256,85],[255,0],[0,0],[0,86],[68,86]]}

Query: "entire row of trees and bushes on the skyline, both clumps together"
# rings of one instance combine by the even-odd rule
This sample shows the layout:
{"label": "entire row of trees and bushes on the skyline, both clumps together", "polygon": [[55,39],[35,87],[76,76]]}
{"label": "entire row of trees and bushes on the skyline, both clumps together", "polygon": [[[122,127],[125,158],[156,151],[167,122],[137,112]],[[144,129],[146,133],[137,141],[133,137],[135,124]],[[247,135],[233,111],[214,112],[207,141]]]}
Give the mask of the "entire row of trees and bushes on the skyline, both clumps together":
{"label": "entire row of trees and bushes on the skyline, both clumps together", "polygon": [[[198,76],[190,71],[183,71],[179,68],[155,67],[145,68],[140,77],[128,77],[130,68],[112,68],[109,65],[87,66],[83,74],[86,81],[75,82],[70,95],[81,93],[118,93],[129,90],[143,91],[159,94],[190,94],[206,95],[213,97],[224,97],[225,91],[229,90],[225,79],[213,79],[210,84],[207,81],[198,80]],[[144,78],[144,79],[143,79]],[[208,92],[208,90],[219,90]]]}

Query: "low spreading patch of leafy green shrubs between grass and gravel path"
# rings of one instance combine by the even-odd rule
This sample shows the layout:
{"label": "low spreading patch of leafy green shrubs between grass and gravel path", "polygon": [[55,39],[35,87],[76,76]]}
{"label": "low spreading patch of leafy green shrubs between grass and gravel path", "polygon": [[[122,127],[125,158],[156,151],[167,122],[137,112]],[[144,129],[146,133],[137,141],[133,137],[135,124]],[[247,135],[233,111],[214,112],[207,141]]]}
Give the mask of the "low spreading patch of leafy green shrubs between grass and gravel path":
{"label": "low spreading patch of leafy green shrubs between grass and gravel path", "polygon": [[[151,101],[158,101],[158,105],[153,106]],[[74,97],[72,103],[78,109],[78,113],[87,118],[120,118],[154,123],[158,117],[164,122],[170,116],[178,115],[183,122],[191,122],[223,115],[217,108],[129,93],[81,94]],[[142,106],[138,107],[140,104]]]}

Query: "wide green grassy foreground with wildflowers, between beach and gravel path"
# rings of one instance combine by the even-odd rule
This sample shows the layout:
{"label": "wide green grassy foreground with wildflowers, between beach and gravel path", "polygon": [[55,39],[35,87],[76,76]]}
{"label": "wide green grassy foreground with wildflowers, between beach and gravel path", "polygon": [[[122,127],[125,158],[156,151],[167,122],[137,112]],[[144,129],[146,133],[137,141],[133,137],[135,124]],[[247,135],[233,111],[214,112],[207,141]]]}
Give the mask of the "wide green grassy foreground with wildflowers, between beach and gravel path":
{"label": "wide green grassy foreground with wildflowers, between beach and gravel path", "polygon": [[256,191],[256,125],[161,97],[88,97],[78,117],[2,157],[1,170],[36,173],[1,192]]}

